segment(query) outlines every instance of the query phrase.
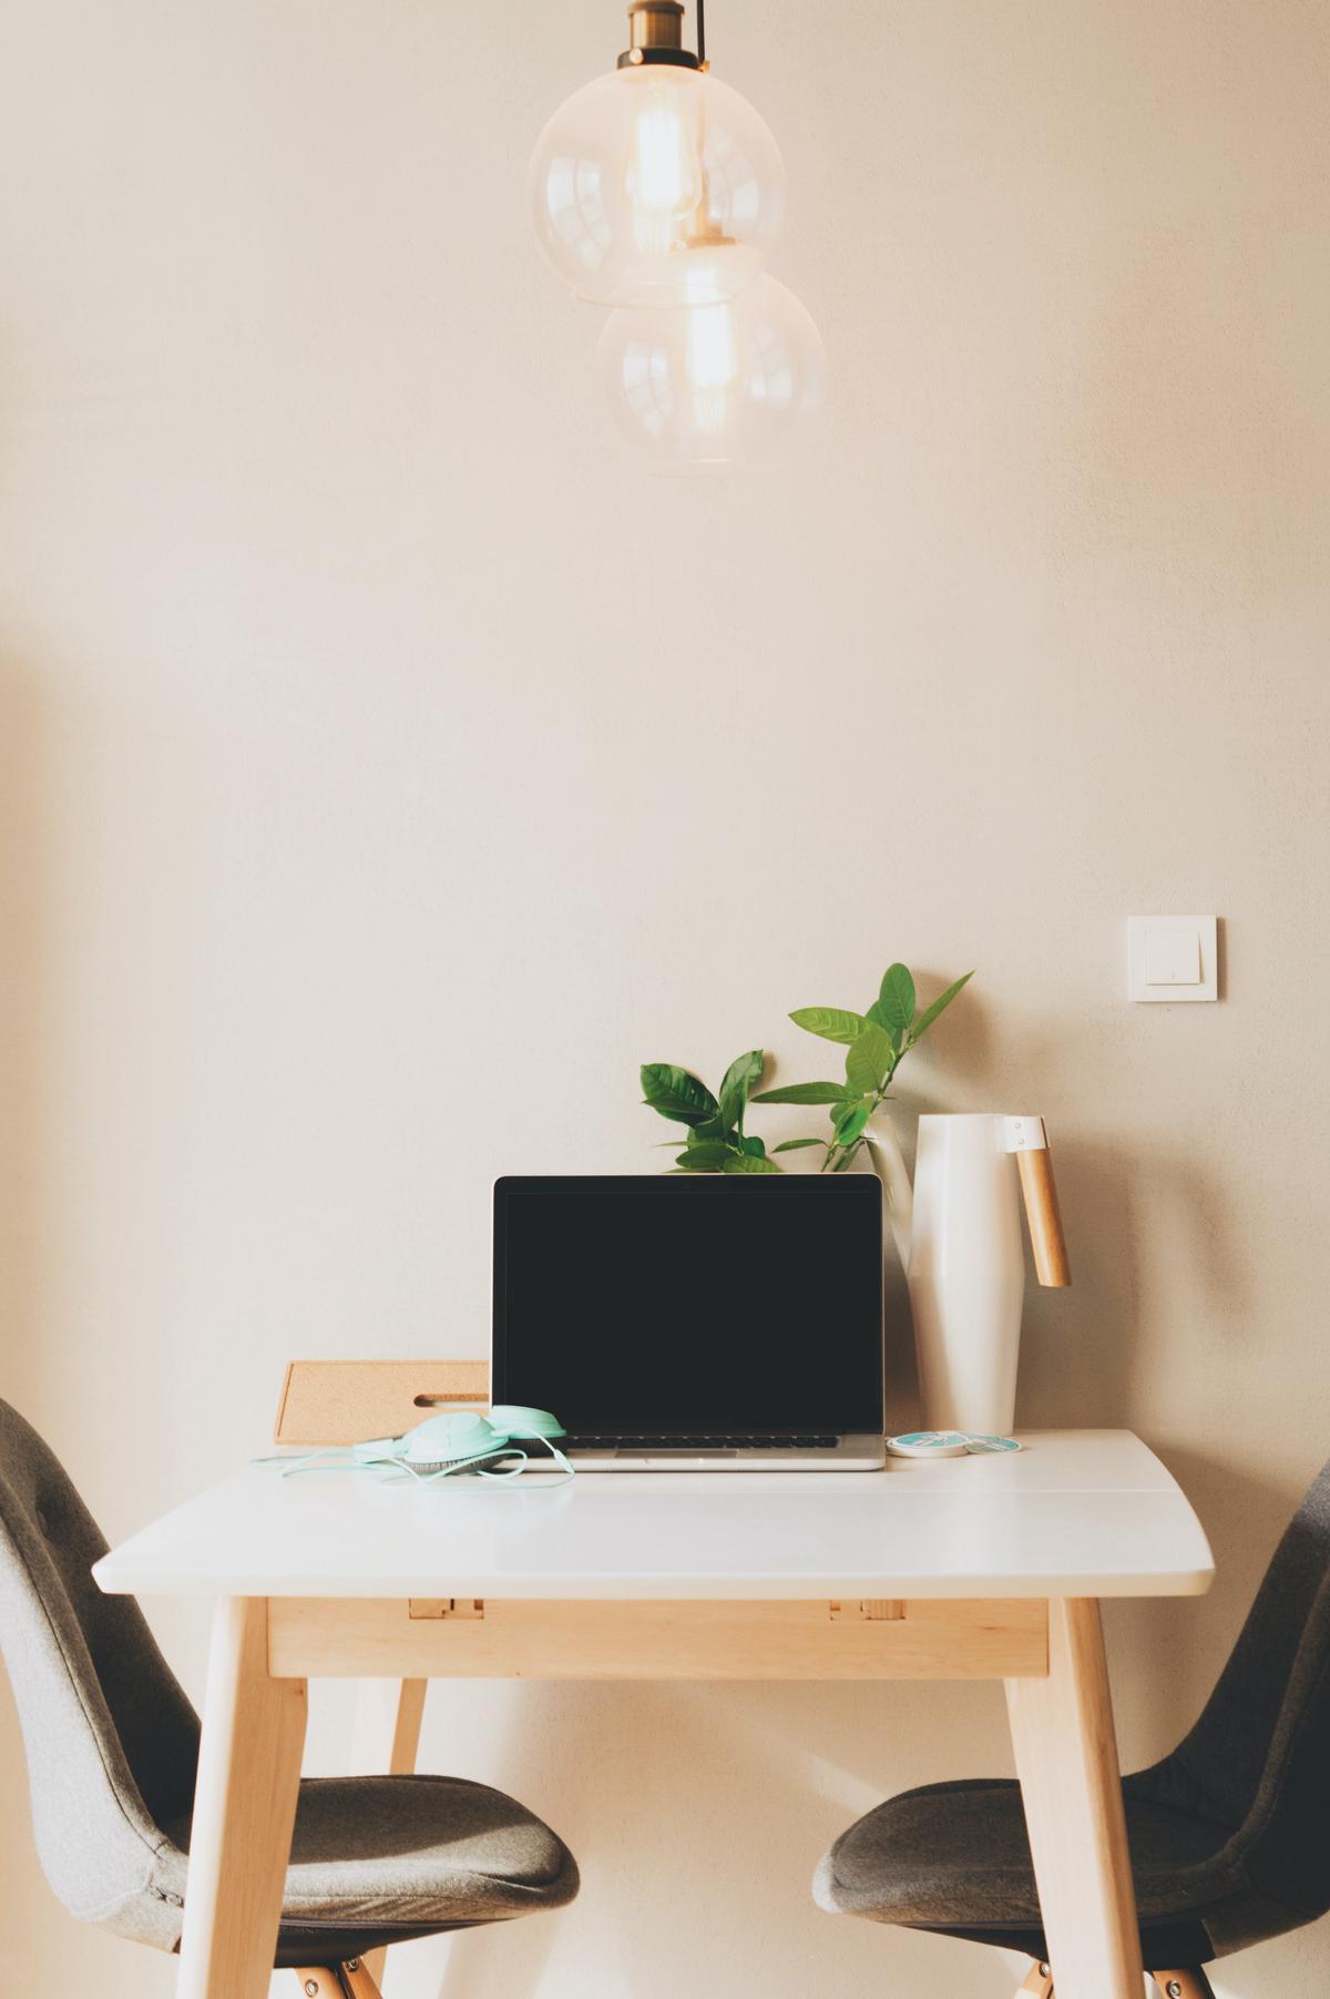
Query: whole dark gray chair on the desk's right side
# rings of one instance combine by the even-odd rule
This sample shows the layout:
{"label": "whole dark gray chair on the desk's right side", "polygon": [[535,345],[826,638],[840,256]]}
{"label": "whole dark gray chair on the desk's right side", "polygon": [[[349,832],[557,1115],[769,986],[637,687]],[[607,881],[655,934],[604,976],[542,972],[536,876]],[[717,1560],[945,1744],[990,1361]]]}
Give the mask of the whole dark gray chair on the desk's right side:
{"label": "whole dark gray chair on the desk's right side", "polygon": [[[1204,1713],[1122,1779],[1146,1971],[1208,1999],[1200,1969],[1330,1909],[1330,1465],[1298,1507]],[[823,1909],[1026,1951],[1048,1999],[1030,1847],[1012,1781],[905,1791],[821,1861]]]}

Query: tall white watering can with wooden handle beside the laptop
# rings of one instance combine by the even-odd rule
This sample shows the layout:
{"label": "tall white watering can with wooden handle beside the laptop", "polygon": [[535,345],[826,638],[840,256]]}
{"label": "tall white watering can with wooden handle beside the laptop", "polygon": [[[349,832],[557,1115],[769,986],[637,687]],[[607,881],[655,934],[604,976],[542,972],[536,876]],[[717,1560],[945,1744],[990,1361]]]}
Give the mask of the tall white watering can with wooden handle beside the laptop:
{"label": "tall white watering can with wooden handle beside the laptop", "polygon": [[1006,1435],[1024,1301],[1016,1189],[1038,1281],[1070,1283],[1044,1119],[921,1117],[913,1189],[891,1119],[865,1135],[911,1287],[923,1427]]}

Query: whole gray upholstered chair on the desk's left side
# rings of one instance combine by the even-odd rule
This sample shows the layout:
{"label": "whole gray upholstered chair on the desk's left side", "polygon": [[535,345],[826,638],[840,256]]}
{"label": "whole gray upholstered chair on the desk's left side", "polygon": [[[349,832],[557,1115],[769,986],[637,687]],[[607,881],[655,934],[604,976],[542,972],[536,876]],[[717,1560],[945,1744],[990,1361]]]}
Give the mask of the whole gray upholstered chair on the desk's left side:
{"label": "whole gray upholstered chair on the desk's left side", "polygon": [[[198,1717],[138,1603],[92,1581],[104,1553],[54,1453],[0,1401],[0,1651],[42,1867],[72,1915],[176,1951]],[[459,1777],[304,1779],[276,1967],[300,1969],[326,1999],[375,1999],[367,1951],[575,1893],[563,1841],[501,1791]]]}

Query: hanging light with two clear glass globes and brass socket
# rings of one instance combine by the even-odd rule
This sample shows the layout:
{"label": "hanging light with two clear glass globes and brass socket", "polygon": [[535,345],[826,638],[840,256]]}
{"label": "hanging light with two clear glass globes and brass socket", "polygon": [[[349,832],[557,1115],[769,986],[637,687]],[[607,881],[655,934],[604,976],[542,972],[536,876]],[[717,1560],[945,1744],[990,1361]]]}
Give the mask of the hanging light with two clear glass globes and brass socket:
{"label": "hanging light with two clear glass globes and brass socket", "polygon": [[709,74],[679,0],[631,0],[615,70],[575,92],[531,158],[535,234],[579,298],[623,434],[653,470],[759,454],[821,402],[813,320],[765,274],[785,170],[753,106]]}

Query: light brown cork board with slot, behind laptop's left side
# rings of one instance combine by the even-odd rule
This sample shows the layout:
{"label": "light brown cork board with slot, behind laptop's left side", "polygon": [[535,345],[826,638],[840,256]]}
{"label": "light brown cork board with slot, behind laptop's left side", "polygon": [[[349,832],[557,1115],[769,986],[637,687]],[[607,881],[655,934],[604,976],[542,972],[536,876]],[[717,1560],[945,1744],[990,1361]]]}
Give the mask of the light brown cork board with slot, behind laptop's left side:
{"label": "light brown cork board with slot, behind laptop's left side", "polygon": [[437,1409],[487,1403],[489,1361],[292,1361],[274,1443],[399,1437]]}

